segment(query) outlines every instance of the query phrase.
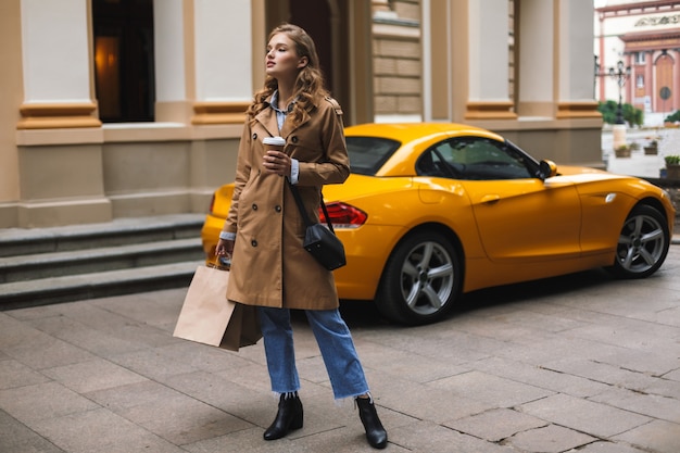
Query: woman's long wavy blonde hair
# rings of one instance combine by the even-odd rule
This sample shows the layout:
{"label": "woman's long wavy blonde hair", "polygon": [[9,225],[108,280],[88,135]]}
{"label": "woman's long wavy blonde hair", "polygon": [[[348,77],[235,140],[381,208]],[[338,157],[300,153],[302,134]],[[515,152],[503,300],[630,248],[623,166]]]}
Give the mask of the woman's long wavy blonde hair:
{"label": "woman's long wavy blonde hair", "polygon": [[[304,111],[311,110],[315,101],[328,96],[328,91],[325,88],[324,74],[319,66],[316,46],[312,37],[297,25],[281,24],[272,30],[267,41],[279,33],[286,34],[293,41],[298,56],[307,58],[307,64],[298,73],[293,88],[293,99],[297,99],[297,101],[293,103],[291,116],[293,124],[298,125],[302,121]],[[264,87],[255,92],[254,100],[248,108],[247,114],[252,118],[266,109],[268,104],[265,101],[277,88],[278,81],[276,78],[267,75],[264,80]]]}

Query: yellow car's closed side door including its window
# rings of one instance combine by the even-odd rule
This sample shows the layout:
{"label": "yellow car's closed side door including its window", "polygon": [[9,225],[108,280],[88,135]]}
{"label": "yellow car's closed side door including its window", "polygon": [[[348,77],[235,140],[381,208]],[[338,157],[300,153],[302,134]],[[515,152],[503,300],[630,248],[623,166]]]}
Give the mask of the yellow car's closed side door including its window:
{"label": "yellow car's closed side door including its window", "polygon": [[580,254],[581,207],[572,183],[536,177],[536,161],[507,142],[454,138],[433,152],[470,199],[490,260],[529,263]]}

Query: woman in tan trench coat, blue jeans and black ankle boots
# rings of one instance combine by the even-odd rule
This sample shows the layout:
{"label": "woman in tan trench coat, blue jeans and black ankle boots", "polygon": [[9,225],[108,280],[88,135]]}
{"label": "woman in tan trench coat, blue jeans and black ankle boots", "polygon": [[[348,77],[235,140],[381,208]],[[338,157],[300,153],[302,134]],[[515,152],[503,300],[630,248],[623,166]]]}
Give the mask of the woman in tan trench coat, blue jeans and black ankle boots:
{"label": "woman in tan trench coat, blue jeans and black ankle boots", "polygon": [[[322,187],[350,174],[342,111],[324,89],[312,38],[284,24],[269,35],[264,88],[255,93],[241,136],[231,207],[217,243],[231,256],[227,297],[259,305],[272,390],[278,413],[265,440],[302,428],[290,309],[304,310],[336,399],[354,398],[368,443],[387,445],[352,336],[338,311],[332,273],[302,248],[305,225],[288,181],[318,221]],[[280,136],[282,151],[263,139]]]}

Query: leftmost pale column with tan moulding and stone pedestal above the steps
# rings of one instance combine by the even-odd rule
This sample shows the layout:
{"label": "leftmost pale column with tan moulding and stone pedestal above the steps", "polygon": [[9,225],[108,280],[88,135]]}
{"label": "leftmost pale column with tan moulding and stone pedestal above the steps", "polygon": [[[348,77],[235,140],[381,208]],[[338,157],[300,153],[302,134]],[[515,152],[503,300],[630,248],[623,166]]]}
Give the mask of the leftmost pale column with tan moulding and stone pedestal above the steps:
{"label": "leftmost pale column with tan moulding and stone pedestal above the steps", "polygon": [[104,196],[101,122],[92,101],[89,2],[21,0],[24,99],[16,124],[16,224],[112,217]]}

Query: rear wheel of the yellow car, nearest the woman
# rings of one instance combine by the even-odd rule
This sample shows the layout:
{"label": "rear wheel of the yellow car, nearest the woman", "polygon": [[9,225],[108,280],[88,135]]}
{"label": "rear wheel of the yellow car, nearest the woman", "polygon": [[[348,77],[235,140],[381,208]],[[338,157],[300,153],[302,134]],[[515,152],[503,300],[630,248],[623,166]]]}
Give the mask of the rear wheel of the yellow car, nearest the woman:
{"label": "rear wheel of the yellow car, nearest the woman", "polygon": [[459,297],[463,269],[451,242],[437,231],[418,231],[392,251],[376,304],[388,319],[423,325],[442,319]]}

